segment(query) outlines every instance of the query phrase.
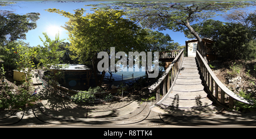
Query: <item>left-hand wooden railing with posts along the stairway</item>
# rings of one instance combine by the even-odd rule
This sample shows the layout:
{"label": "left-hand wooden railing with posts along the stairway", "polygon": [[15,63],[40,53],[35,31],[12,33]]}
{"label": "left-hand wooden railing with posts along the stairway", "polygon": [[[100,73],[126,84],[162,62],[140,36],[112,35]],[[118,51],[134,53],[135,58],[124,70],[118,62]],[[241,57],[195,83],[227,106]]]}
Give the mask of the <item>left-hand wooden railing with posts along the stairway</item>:
{"label": "left-hand wooden railing with posts along the stairway", "polygon": [[[176,56],[174,61],[168,66],[166,71],[161,75],[161,77],[153,85],[148,87],[150,92],[156,89],[156,102],[160,100],[160,84],[163,82],[163,96],[165,96],[171,89],[171,86],[175,85],[177,74],[179,74],[179,69],[181,63],[184,59],[184,50],[180,50],[180,53]],[[167,86],[167,87],[166,87]],[[167,90],[166,90],[167,89]]]}

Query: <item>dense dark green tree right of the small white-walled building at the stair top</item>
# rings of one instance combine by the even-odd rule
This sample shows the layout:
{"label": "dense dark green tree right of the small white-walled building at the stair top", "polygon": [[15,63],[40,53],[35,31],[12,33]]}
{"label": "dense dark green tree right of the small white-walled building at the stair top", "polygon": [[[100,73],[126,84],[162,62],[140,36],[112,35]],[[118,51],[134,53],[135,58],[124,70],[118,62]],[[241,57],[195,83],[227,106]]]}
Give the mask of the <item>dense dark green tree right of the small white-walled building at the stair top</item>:
{"label": "dense dark green tree right of the small white-walled building at the stair top", "polygon": [[248,28],[241,24],[228,23],[218,32],[219,36],[214,45],[221,56],[233,60],[250,58],[253,48],[247,43],[253,40],[253,35]]}

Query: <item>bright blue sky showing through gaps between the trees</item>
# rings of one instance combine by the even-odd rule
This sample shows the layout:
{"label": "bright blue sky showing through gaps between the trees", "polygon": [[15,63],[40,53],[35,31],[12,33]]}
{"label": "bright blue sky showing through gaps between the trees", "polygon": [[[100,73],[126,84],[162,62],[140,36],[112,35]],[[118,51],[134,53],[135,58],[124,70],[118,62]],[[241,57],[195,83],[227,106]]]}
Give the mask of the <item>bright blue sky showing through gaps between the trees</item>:
{"label": "bright blue sky showing through gaps between the trees", "polygon": [[[26,40],[23,40],[26,43],[30,43],[30,46],[37,46],[37,45],[43,45],[42,41],[40,41],[39,36],[42,37],[44,40],[43,32],[47,32],[47,35],[51,39],[55,39],[55,35],[53,35],[51,32],[53,30],[56,30],[56,28],[59,28],[60,30],[60,39],[65,39],[65,41],[68,41],[68,35],[67,31],[65,31],[63,28],[60,28],[60,26],[64,26],[65,22],[68,21],[68,18],[65,18],[64,16],[60,16],[56,13],[51,13],[48,11],[44,11],[46,9],[60,9],[68,12],[72,12],[75,9],[90,9],[91,7],[85,7],[84,5],[89,4],[97,4],[102,3],[100,1],[83,1],[83,2],[68,2],[68,3],[59,3],[59,2],[51,2],[51,1],[17,1],[14,6],[11,6],[11,9],[14,10],[16,14],[26,14],[28,12],[39,12],[40,13],[40,19],[36,22],[37,28],[35,30],[28,31],[26,33]],[[88,10],[88,12],[92,12]],[[220,16],[213,18],[214,20],[220,20],[224,22],[225,20],[222,19]],[[171,30],[166,31],[160,31],[164,34],[168,33],[172,40],[174,42],[179,43],[180,45],[185,45],[185,41],[189,40],[184,36],[183,32],[173,32]]]}

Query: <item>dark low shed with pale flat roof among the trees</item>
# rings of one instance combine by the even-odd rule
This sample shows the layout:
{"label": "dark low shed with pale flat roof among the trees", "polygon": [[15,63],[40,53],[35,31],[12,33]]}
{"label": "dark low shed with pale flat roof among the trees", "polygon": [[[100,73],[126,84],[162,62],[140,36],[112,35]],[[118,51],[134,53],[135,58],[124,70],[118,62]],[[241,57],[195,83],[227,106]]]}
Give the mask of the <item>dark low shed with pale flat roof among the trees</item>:
{"label": "dark low shed with pale flat roof among the trees", "polygon": [[[57,66],[64,65],[67,64],[58,64]],[[64,66],[64,68],[58,69],[52,66],[51,69],[63,71],[62,78],[59,79],[61,85],[66,87],[89,86],[92,69],[88,68],[88,66],[82,64],[68,64]]]}

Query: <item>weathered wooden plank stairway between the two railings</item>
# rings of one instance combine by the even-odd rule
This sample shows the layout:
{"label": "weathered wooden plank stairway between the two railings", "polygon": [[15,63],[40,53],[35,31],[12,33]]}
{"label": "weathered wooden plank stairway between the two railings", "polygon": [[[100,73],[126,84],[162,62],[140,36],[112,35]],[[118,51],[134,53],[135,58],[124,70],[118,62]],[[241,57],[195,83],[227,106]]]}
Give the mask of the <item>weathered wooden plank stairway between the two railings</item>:
{"label": "weathered wooden plank stairway between the two railings", "polygon": [[176,116],[206,115],[220,111],[207,97],[195,58],[184,57],[173,90],[151,107],[152,111]]}

